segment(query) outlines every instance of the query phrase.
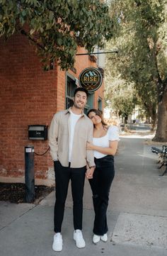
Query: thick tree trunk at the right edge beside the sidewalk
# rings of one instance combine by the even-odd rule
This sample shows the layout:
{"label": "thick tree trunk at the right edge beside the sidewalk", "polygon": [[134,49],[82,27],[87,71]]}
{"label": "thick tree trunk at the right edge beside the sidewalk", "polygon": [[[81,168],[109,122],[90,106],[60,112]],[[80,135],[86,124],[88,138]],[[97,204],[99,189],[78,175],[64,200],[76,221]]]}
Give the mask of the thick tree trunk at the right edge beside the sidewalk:
{"label": "thick tree trunk at the right edge beside the sidewalk", "polygon": [[158,122],[154,141],[167,142],[167,87],[158,106]]}

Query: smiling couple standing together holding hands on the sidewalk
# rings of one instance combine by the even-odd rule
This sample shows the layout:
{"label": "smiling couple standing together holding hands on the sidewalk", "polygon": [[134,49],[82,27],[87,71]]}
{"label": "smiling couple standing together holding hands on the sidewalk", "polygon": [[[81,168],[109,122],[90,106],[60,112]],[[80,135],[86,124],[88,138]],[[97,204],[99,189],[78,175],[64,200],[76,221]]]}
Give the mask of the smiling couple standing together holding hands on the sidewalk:
{"label": "smiling couple standing together holding hands on the sidewalk", "polygon": [[50,124],[49,144],[56,179],[52,249],[57,252],[62,251],[61,229],[70,179],[76,246],[82,248],[86,245],[81,232],[85,176],[93,193],[93,243],[98,243],[100,239],[108,240],[106,211],[115,174],[113,155],[119,140],[118,129],[116,126],[108,128],[96,109],[88,111],[86,116],[84,106],[87,99],[88,91],[77,88],[74,105],[56,113]]}

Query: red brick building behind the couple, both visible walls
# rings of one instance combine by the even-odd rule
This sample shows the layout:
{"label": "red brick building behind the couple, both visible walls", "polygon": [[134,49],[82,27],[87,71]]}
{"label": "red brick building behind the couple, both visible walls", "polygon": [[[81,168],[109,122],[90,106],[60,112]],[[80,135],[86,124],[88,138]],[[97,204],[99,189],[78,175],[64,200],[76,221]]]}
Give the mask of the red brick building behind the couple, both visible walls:
{"label": "red brick building behind the couple, both visible walls", "polygon": [[[56,65],[45,72],[33,45],[20,34],[0,39],[0,60],[0,181],[24,182],[25,146],[33,145],[38,153],[48,148],[47,140],[28,140],[28,125],[50,125],[54,113],[71,104],[80,72],[97,63],[81,55],[68,72]],[[103,85],[90,95],[86,108],[91,107],[103,108]],[[50,152],[35,155],[35,184],[53,181]]]}

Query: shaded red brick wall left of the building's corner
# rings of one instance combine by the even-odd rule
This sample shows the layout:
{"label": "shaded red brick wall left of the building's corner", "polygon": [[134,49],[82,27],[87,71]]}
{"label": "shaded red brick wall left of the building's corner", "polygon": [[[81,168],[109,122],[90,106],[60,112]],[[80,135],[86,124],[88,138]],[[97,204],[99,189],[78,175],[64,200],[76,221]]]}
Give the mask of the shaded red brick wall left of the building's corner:
{"label": "shaded red brick wall left of the building's corner", "polygon": [[[28,140],[28,125],[47,124],[57,111],[57,72],[42,70],[23,35],[0,40],[0,60],[0,174],[18,177],[24,173],[25,145],[47,150],[47,141]],[[47,155],[35,157],[36,177],[45,177]]]}

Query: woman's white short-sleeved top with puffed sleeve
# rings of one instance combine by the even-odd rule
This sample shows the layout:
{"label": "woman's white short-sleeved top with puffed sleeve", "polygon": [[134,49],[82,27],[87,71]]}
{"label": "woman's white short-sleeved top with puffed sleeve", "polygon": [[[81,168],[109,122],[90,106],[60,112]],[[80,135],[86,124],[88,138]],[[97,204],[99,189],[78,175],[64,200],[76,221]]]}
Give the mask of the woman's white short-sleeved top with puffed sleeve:
{"label": "woman's white short-sleeved top with puffed sleeve", "polygon": [[[120,140],[119,128],[117,126],[110,126],[105,136],[100,138],[93,138],[93,145],[103,147],[103,148],[109,148],[109,140],[110,141]],[[105,157],[105,155],[103,153],[100,153],[94,150],[94,157],[102,158],[102,157]]]}

